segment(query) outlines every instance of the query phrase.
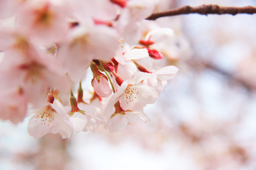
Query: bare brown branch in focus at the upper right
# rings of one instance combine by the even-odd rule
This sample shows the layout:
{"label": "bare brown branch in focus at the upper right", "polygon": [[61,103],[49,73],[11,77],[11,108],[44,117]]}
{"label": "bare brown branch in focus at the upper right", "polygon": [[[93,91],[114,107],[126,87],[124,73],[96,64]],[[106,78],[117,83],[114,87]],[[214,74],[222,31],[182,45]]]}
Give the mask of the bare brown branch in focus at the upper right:
{"label": "bare brown branch in focus at the upper right", "polygon": [[231,15],[237,15],[237,14],[254,14],[256,13],[256,8],[252,6],[247,7],[221,7],[218,5],[201,5],[198,7],[190,7],[190,6],[184,6],[177,9],[172,9],[168,11],[163,12],[155,12],[151,16],[147,17],[148,20],[156,20],[160,17],[165,16],[175,16],[175,15],[183,15],[183,14],[202,14],[202,15],[208,15],[208,14],[231,14]]}

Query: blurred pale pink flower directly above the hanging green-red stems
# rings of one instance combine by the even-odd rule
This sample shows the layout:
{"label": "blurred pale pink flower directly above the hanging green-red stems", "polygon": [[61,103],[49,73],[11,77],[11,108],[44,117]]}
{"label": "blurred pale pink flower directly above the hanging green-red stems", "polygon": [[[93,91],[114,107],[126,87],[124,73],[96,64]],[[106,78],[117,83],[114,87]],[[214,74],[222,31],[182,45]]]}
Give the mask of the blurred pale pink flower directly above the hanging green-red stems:
{"label": "blurred pale pink flower directly above the hanging green-red stems", "polygon": [[117,33],[106,26],[76,27],[58,47],[57,60],[63,72],[80,81],[93,58],[109,61],[117,49]]}

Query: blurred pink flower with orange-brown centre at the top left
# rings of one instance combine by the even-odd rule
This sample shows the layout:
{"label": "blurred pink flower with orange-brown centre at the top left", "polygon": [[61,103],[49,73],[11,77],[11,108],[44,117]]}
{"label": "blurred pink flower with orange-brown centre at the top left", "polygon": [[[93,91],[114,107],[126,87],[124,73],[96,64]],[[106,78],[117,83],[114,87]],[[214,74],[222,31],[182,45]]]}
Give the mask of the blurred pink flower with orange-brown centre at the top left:
{"label": "blurred pink flower with orange-brown centre at the top left", "polygon": [[38,0],[20,7],[18,28],[39,43],[56,42],[68,29],[66,18],[71,14],[65,1]]}

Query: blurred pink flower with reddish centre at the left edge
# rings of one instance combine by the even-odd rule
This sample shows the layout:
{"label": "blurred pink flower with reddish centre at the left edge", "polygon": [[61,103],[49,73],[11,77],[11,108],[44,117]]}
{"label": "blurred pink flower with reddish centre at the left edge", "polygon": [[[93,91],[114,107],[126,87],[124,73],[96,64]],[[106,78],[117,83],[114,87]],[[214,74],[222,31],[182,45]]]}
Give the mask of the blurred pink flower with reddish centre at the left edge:
{"label": "blurred pink flower with reddish centre at the left edge", "polygon": [[20,86],[28,102],[34,107],[42,107],[49,88],[67,91],[68,79],[59,74],[51,56],[30,45],[28,41],[21,41],[5,51],[0,75],[7,88]]}

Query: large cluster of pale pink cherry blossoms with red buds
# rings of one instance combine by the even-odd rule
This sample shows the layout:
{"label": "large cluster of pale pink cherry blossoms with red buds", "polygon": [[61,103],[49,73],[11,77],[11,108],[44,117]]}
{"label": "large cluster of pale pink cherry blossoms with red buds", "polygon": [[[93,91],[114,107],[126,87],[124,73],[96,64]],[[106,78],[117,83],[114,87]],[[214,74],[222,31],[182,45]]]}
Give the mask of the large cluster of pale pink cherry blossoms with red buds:
{"label": "large cluster of pale pink cherry blossoms with red buds", "polygon": [[[0,119],[17,124],[32,116],[35,138],[70,138],[99,126],[118,132],[129,118],[150,121],[143,108],[179,70],[157,64],[174,35],[144,19],[157,3],[1,0]],[[89,67],[91,93],[82,88]]]}

